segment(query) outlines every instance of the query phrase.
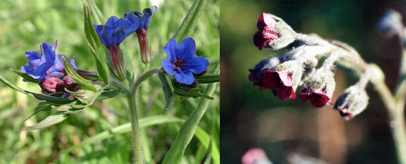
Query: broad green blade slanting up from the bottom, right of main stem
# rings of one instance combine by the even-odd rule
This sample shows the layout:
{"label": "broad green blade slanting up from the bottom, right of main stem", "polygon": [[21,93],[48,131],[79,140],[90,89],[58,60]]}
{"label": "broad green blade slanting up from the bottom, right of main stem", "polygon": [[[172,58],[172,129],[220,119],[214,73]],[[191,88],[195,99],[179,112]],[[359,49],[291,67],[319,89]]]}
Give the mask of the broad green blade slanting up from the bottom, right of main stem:
{"label": "broad green blade slanting up from the bottom, right of main stem", "polygon": [[[217,83],[211,83],[207,86],[205,90],[205,95],[213,95],[214,90],[216,90]],[[186,122],[182,125],[179,133],[175,139],[175,142],[166,154],[162,164],[179,164],[184,155],[185,149],[192,139],[196,128],[198,127],[199,121],[205,113],[207,106],[209,104],[208,99],[200,99],[199,105],[190,114]]]}

